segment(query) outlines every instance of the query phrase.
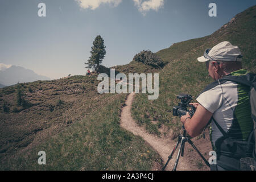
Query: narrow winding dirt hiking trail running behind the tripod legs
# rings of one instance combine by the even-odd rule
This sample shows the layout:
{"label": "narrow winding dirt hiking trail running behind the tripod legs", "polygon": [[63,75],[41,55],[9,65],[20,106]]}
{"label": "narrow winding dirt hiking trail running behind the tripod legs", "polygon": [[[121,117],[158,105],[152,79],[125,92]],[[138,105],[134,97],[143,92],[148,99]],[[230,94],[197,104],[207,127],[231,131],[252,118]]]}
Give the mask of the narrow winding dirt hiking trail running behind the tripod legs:
{"label": "narrow winding dirt hiking trail running behind the tripod legs", "polygon": [[[167,137],[159,138],[156,135],[148,134],[143,127],[137,125],[137,123],[131,117],[131,105],[134,95],[135,93],[129,94],[125,102],[126,105],[122,108],[120,121],[121,127],[129,130],[134,135],[142,137],[147,143],[150,144],[150,146],[154,148],[154,150],[158,152],[163,160],[163,163],[165,164],[167,162],[168,156],[171,154],[172,149],[175,147],[176,142]],[[174,167],[178,150],[179,147],[177,148],[173,158],[170,160],[165,170],[172,170]],[[186,162],[185,158],[180,156],[179,163],[177,165],[177,171],[187,170],[191,170],[191,167],[189,167],[189,163]]]}

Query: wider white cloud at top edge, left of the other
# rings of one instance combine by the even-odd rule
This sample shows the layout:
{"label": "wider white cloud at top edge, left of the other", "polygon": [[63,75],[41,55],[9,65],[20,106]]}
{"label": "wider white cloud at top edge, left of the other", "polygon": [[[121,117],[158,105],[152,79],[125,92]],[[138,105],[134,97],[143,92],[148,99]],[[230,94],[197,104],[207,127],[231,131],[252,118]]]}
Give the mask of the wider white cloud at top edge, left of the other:
{"label": "wider white cloud at top edge, left of the other", "polygon": [[79,3],[79,6],[82,9],[91,9],[95,10],[99,7],[102,3],[110,3],[113,4],[114,7],[117,7],[122,0],[75,0]]}

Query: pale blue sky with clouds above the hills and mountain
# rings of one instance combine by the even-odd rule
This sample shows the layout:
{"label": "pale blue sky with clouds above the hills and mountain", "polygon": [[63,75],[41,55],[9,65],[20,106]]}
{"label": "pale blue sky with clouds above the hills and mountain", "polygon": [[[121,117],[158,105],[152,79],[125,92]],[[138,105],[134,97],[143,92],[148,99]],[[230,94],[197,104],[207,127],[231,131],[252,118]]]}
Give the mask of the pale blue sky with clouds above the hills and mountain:
{"label": "pale blue sky with clouds above the hills and mountain", "polygon": [[[38,4],[46,4],[46,17]],[[208,15],[216,3],[217,17]],[[105,40],[102,64],[129,63],[183,40],[212,34],[255,0],[0,0],[0,63],[40,75],[85,75],[97,35]]]}

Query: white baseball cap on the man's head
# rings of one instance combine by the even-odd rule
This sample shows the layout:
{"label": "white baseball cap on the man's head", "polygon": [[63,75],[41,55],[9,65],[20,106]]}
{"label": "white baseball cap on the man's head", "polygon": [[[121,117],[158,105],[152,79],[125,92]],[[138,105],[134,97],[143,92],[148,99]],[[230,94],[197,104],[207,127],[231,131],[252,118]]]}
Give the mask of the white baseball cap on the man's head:
{"label": "white baseball cap on the man's head", "polygon": [[198,61],[242,61],[240,48],[232,46],[228,41],[221,42],[212,49],[206,49],[204,56],[198,57]]}

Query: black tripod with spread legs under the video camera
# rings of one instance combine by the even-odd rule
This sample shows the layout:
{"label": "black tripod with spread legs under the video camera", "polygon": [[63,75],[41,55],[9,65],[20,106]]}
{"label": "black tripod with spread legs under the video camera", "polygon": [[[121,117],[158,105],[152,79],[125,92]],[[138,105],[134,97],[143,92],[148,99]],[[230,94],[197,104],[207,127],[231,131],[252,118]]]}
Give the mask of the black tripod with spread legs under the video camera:
{"label": "black tripod with spread legs under the video camera", "polygon": [[183,129],[183,134],[179,135],[179,139],[178,139],[178,141],[176,143],[176,146],[174,147],[174,150],[172,150],[171,155],[168,156],[168,160],[167,160],[167,162],[164,165],[162,170],[164,171],[164,169],[168,165],[168,162],[172,159],[172,156],[174,155],[174,152],[176,151],[177,147],[179,146],[179,144],[181,144],[180,148],[179,148],[179,152],[177,154],[176,161],[174,163],[174,168],[172,169],[172,171],[176,171],[177,164],[179,163],[179,159],[180,159],[180,153],[181,153],[181,156],[184,155],[185,142],[188,142],[189,144],[191,144],[191,146],[195,149],[195,151],[197,151],[197,153],[200,155],[200,157],[204,160],[205,164],[207,164],[207,166],[210,167],[209,162],[204,158],[204,156],[201,154],[201,152],[196,148],[195,144],[193,144],[191,139],[189,139],[186,136],[187,131],[185,130],[184,126],[182,127],[182,129]]}

